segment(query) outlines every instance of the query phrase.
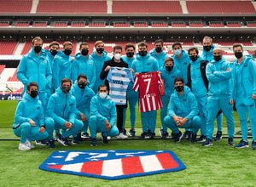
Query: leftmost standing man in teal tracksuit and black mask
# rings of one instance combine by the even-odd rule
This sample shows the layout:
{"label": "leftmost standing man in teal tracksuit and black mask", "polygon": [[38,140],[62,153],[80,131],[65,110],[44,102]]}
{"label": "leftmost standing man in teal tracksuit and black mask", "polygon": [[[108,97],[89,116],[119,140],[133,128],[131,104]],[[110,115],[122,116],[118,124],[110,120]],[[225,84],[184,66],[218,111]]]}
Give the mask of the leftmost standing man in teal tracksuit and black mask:
{"label": "leftmost standing man in teal tracksuit and black mask", "polygon": [[32,40],[32,49],[20,59],[17,78],[23,83],[23,93],[29,82],[38,83],[38,97],[45,110],[47,105],[47,90],[51,89],[52,71],[45,50],[42,49],[43,40],[35,37]]}

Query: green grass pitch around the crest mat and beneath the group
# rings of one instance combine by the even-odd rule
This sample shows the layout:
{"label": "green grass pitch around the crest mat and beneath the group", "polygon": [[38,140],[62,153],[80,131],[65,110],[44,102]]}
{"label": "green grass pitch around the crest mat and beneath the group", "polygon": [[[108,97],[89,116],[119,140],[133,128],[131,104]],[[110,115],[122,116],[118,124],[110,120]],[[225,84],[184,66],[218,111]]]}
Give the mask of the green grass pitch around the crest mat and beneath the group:
{"label": "green grass pitch around the crest mat and beneath the group", "polygon": [[[16,101],[0,101],[0,139],[15,138],[11,126],[16,104]],[[236,127],[239,127],[237,121],[236,116]],[[157,127],[160,127],[160,119],[158,122]],[[139,123],[137,127],[140,127]],[[239,140],[236,139],[236,143]],[[2,140],[0,186],[255,186],[256,151],[235,150],[226,143],[227,139],[223,139],[214,142],[210,148],[190,144],[187,140],[174,144],[170,139],[99,142],[96,148],[91,148],[90,142],[68,148],[56,143],[55,150],[172,150],[187,167],[177,173],[108,181],[41,171],[38,166],[54,150],[37,146],[34,150],[20,151],[18,141]]]}

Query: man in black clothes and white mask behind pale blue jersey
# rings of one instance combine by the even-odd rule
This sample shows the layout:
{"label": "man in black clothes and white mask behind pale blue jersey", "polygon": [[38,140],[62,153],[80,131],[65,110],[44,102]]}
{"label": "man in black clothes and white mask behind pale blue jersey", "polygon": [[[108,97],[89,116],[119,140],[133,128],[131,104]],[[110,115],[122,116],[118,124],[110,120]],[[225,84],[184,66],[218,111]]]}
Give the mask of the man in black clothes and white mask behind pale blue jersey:
{"label": "man in black clothes and white mask behind pale blue jersey", "polygon": [[[102,67],[102,72],[101,72],[101,79],[105,80],[105,85],[108,87],[109,90],[109,82],[107,80],[108,77],[108,72],[111,67],[125,67],[128,68],[128,64],[121,59],[122,56],[122,47],[121,46],[114,46],[113,47],[113,58],[106,61]],[[119,76],[114,75],[114,76]],[[125,77],[119,77],[119,81],[123,85],[124,80],[123,78]],[[120,88],[116,89],[116,92],[120,92]],[[126,90],[125,90],[126,92]],[[121,95],[119,95],[121,97]],[[113,99],[113,98],[112,98]],[[124,108],[127,108],[127,104],[121,105],[121,104],[116,104],[116,111],[117,111],[117,127],[119,128],[119,136],[118,139],[127,139],[127,136],[123,133],[123,120],[124,120]]]}

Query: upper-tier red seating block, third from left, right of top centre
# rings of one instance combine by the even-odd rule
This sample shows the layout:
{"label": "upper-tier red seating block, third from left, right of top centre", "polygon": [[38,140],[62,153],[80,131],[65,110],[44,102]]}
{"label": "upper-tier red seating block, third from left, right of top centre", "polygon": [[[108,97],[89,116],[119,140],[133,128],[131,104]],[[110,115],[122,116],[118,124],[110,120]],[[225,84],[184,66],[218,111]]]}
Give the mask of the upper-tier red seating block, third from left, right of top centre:
{"label": "upper-tier red seating block, third from left, right of top centre", "polygon": [[183,14],[178,1],[113,1],[113,14]]}

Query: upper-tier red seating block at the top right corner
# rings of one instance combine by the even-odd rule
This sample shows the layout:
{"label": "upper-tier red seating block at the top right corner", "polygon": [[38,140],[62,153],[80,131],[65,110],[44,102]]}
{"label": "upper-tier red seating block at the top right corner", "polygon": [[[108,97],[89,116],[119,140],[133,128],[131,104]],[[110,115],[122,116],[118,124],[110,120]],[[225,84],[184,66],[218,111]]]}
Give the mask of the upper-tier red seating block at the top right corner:
{"label": "upper-tier red seating block at the top right corner", "polygon": [[255,14],[251,1],[187,1],[189,14]]}

